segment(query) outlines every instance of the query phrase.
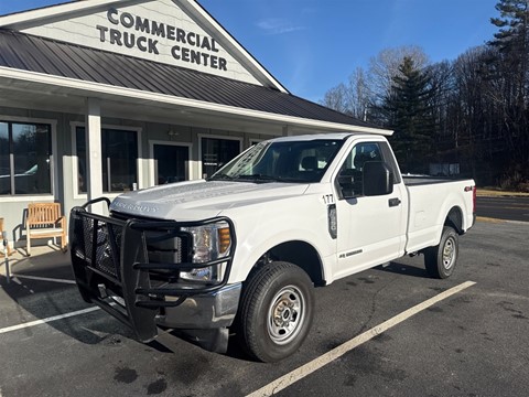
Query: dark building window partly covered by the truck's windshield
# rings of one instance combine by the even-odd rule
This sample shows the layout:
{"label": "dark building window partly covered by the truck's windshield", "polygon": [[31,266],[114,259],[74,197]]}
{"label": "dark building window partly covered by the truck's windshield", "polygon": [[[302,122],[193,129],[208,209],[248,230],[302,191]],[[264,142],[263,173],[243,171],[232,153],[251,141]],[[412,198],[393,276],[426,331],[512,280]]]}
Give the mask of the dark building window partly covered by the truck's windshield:
{"label": "dark building window partly covered by the truck's windshield", "polygon": [[202,138],[202,173],[212,176],[215,171],[240,153],[240,141],[235,139]]}

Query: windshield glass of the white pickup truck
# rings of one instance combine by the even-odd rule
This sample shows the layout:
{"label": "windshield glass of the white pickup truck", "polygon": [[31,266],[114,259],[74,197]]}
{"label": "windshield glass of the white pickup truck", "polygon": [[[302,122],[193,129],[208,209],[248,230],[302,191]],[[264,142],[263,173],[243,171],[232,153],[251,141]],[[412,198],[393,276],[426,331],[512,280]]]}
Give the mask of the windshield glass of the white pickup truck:
{"label": "windshield glass of the white pickup truck", "polygon": [[218,170],[209,180],[320,182],[343,140],[260,142]]}

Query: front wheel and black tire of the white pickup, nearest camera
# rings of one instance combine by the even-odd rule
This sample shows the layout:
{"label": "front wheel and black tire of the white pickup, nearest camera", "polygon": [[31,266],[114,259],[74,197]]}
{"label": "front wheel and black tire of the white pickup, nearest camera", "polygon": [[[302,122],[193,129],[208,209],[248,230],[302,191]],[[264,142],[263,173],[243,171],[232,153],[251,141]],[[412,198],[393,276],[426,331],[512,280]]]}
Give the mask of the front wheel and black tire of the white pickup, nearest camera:
{"label": "front wheel and black tire of the white pickup, nearest camera", "polygon": [[249,355],[273,363],[295,353],[314,318],[314,288],[300,267],[276,261],[258,269],[242,291],[237,334]]}

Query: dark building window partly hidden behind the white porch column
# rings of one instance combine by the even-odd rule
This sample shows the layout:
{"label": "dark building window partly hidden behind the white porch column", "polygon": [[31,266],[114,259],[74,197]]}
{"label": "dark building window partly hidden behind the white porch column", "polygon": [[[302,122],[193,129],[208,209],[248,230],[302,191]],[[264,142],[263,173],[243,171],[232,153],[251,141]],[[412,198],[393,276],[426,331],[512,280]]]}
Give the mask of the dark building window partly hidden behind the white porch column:
{"label": "dark building window partly hidden behind the white porch column", "polygon": [[[76,128],[78,159],[78,193],[86,193],[85,127]],[[105,193],[132,190],[138,182],[138,133],[136,131],[101,129],[102,191]]]}

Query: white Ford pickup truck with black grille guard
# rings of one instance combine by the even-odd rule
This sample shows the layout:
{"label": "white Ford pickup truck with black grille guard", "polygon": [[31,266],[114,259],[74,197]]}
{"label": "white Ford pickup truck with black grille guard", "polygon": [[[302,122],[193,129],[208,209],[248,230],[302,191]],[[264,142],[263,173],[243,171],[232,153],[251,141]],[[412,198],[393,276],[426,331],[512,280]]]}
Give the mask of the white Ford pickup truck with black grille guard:
{"label": "white Ford pickup truck with black grille guard", "polygon": [[[109,204],[109,216],[88,208]],[[260,142],[212,178],[75,207],[69,239],[80,294],[151,341],[182,330],[224,352],[294,353],[314,287],[423,254],[449,277],[475,221],[472,180],[402,176],[382,136],[325,133]]]}

